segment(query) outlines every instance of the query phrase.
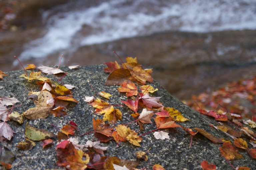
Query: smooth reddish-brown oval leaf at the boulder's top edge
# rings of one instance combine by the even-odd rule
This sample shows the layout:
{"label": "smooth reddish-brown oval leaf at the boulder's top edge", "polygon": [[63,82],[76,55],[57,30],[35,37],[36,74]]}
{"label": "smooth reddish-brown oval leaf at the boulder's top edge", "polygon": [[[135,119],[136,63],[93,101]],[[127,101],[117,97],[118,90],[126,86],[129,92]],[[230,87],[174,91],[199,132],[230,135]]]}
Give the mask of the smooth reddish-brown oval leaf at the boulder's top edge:
{"label": "smooth reddish-brown oval leaf at the boulder's top edge", "polygon": [[109,74],[106,85],[120,85],[123,81],[131,77],[130,70],[119,68]]}

